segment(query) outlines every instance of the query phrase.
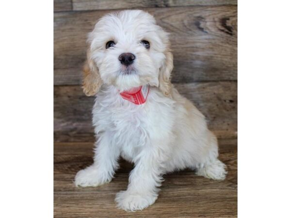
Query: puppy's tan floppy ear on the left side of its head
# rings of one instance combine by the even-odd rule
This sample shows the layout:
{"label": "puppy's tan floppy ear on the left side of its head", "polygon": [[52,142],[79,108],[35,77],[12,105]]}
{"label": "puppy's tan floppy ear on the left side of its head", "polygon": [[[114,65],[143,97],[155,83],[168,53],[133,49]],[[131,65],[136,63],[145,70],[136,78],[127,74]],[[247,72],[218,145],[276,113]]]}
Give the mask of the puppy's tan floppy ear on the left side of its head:
{"label": "puppy's tan floppy ear on the left side of its head", "polygon": [[101,85],[102,80],[100,78],[99,70],[96,66],[96,63],[92,59],[90,48],[87,51],[87,60],[83,67],[83,92],[87,96],[95,95]]}

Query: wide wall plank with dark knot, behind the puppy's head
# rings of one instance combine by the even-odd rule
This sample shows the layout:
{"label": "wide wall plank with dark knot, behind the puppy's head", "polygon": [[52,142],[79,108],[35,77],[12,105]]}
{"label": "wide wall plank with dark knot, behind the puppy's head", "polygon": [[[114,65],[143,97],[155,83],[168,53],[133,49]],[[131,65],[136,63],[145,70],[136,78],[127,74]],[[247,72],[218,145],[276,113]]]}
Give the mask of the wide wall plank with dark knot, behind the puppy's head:
{"label": "wide wall plank with dark knot, behind the puppy's head", "polygon": [[[237,6],[146,8],[171,33],[173,82],[237,80]],[[81,84],[86,35],[111,11],[54,15],[54,84]]]}

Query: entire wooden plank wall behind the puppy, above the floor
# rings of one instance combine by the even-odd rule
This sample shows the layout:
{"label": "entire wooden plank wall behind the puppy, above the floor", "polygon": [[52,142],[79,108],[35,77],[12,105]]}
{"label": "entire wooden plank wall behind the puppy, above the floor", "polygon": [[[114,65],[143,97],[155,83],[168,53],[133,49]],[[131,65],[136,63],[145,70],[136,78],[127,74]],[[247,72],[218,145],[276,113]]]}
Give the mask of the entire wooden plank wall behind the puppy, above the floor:
{"label": "entire wooden plank wall behind the puppy, above the floor", "polygon": [[93,141],[93,98],[81,92],[86,36],[112,9],[140,8],[168,31],[173,83],[220,139],[237,137],[235,0],[54,0],[54,140]]}

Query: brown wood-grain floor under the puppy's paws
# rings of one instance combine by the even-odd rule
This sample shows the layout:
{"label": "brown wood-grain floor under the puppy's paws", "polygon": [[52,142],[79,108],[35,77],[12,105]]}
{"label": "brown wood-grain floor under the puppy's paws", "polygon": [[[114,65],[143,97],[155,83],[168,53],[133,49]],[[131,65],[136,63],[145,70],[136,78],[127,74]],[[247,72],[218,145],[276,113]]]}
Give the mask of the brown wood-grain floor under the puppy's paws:
{"label": "brown wood-grain floor under the puppy's paws", "polygon": [[237,141],[219,140],[219,158],[226,163],[225,181],[196,176],[193,171],[164,176],[158,200],[143,211],[127,213],[115,208],[115,194],[128,185],[132,165],[120,161],[112,182],[101,187],[75,187],[77,171],[93,162],[93,143],[55,143],[55,218],[178,218],[237,217]]}

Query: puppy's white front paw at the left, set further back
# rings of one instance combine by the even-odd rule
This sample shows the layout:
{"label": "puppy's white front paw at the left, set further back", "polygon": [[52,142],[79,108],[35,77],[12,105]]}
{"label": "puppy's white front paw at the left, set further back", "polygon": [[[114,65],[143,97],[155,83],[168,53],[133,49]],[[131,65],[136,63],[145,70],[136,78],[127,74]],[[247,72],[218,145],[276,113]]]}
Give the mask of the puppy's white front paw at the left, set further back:
{"label": "puppy's white front paw at the left, set further back", "polygon": [[98,173],[97,169],[92,166],[79,171],[75,176],[76,187],[97,187],[110,181],[111,178],[106,178],[106,176],[101,175]]}

